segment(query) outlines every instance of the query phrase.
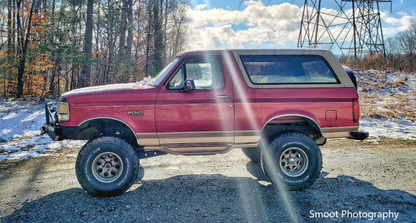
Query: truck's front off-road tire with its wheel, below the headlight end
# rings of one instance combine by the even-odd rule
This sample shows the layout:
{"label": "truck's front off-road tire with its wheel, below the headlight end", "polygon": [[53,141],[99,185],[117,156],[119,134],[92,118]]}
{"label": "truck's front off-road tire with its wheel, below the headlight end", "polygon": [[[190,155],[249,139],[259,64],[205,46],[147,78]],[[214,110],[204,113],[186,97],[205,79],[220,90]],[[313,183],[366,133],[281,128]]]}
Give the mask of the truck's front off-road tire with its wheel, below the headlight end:
{"label": "truck's front off-road tire with its wheel, below the headlight end", "polygon": [[104,136],[82,147],[75,163],[81,186],[94,196],[117,196],[135,182],[139,159],[123,139]]}

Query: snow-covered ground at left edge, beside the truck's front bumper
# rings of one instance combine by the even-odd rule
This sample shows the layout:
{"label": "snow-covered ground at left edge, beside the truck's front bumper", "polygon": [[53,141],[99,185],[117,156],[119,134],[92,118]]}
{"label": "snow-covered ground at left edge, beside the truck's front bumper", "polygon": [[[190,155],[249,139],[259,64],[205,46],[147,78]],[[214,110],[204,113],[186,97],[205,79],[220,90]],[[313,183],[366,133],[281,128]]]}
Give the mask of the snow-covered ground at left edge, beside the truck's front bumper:
{"label": "snow-covered ground at left edge, beside the truck's front bumper", "polygon": [[80,148],[85,141],[55,142],[40,135],[45,104],[0,99],[0,161],[57,155],[60,148]]}

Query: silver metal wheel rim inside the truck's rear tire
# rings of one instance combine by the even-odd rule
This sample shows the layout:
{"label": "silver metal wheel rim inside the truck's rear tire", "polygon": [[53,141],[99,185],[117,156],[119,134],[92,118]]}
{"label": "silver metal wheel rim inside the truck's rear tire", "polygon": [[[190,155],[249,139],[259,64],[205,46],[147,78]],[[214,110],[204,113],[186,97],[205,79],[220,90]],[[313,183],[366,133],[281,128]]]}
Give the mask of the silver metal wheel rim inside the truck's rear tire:
{"label": "silver metal wheel rim inside the truck's rear tire", "polygon": [[280,169],[290,177],[298,177],[308,169],[308,156],[296,147],[291,147],[283,151],[280,156]]}

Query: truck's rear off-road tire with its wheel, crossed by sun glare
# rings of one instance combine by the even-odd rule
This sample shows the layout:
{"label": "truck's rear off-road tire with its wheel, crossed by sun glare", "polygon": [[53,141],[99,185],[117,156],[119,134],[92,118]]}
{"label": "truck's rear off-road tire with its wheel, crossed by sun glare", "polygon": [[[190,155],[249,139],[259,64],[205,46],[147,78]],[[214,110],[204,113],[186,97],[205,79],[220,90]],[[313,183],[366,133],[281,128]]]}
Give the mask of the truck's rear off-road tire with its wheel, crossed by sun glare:
{"label": "truck's rear off-road tire with its wheel, crossed by sun glare", "polygon": [[303,190],[318,179],[322,154],[310,137],[290,132],[262,149],[260,163],[266,177],[279,189]]}

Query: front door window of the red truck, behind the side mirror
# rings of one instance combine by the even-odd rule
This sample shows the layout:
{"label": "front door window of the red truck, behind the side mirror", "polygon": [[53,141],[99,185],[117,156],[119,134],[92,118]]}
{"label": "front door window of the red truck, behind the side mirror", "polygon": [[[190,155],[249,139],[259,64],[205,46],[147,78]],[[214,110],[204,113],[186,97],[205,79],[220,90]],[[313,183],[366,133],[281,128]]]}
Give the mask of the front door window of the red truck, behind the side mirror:
{"label": "front door window of the red truck, behind the side mirror", "polygon": [[186,79],[192,79],[196,90],[221,89],[224,77],[220,60],[189,59],[168,84],[168,89],[180,90]]}

